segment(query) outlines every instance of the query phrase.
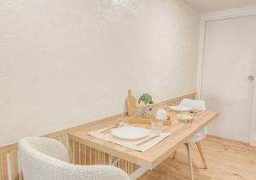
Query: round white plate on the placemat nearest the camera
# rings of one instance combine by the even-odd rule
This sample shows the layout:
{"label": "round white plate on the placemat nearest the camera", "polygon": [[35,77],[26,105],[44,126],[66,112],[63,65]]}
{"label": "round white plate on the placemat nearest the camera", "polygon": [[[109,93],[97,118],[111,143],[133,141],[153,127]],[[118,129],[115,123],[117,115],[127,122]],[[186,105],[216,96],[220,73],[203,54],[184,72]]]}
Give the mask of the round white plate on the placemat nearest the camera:
{"label": "round white plate on the placemat nearest the camera", "polygon": [[148,136],[149,130],[142,127],[125,125],[125,126],[113,129],[111,133],[113,136],[118,137],[120,139],[137,140],[145,136]]}

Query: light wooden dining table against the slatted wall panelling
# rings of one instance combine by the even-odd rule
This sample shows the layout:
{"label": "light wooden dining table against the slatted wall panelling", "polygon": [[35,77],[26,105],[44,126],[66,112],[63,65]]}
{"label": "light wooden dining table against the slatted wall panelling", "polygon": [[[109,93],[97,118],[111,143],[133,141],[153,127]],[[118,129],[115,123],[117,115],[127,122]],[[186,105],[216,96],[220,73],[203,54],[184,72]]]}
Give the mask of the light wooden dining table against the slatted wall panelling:
{"label": "light wooden dining table against the slatted wall panelling", "polygon": [[[74,142],[82,144],[85,147],[94,148],[104,154],[108,154],[108,163],[113,165],[118,160],[125,160],[129,163],[137,165],[137,168],[134,168],[134,171],[130,171],[131,179],[137,179],[141,177],[146,171],[153,170],[157,165],[166,160],[166,158],[183,143],[187,142],[190,137],[194,136],[196,132],[201,130],[201,128],[208,125],[215,117],[218,116],[217,112],[206,110],[198,116],[194,117],[194,120],[191,124],[184,124],[183,122],[177,119],[177,116],[172,116],[172,125],[165,125],[164,131],[170,132],[171,135],[167,136],[163,141],[156,144],[154,147],[149,148],[144,152],[138,152],[130,148],[122,147],[118,144],[112,142],[106,142],[102,139],[90,136],[88,131],[96,131],[102,128],[106,128],[110,125],[116,125],[119,122],[129,123],[129,117],[125,116],[118,119],[106,119],[104,121],[93,123],[84,128],[73,131],[68,134],[70,146],[70,154],[76,157],[81,158],[84,156],[89,157],[88,152],[85,150],[75,149]],[[137,124],[136,124],[137,125]],[[150,125],[137,125],[150,128]],[[80,146],[79,146],[80,147]],[[81,154],[81,152],[84,152]],[[91,154],[91,152],[90,152]],[[76,163],[75,158],[73,157],[73,163]],[[79,164],[79,163],[77,163]],[[86,164],[86,162],[84,163]]]}

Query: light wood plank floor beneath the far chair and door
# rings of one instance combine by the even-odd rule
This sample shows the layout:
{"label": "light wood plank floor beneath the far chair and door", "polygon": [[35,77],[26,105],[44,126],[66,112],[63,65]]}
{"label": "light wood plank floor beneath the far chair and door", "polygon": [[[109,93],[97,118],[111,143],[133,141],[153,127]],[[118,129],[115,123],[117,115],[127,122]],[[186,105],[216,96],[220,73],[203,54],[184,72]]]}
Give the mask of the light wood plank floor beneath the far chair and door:
{"label": "light wood plank floor beneath the far chair and door", "polygon": [[[208,169],[202,169],[196,145],[191,148],[196,180],[256,180],[256,148],[243,142],[207,136],[201,142]],[[176,160],[169,157],[155,171],[148,171],[139,180],[189,179],[188,155],[185,146],[177,149]]]}

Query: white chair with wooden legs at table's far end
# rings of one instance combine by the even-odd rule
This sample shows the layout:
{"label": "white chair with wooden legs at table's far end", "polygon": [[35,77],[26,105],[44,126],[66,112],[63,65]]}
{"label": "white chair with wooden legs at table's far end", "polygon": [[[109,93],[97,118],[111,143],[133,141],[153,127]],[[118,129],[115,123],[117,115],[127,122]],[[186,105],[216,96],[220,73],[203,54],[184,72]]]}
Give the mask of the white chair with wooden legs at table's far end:
{"label": "white chair with wooden legs at table's far end", "polygon": [[[204,101],[201,100],[191,100],[191,99],[183,99],[180,104],[181,106],[186,106],[186,107],[192,107],[193,109],[199,109],[199,110],[205,110],[206,109],[206,104]],[[195,143],[198,151],[201,155],[201,160],[205,166],[205,169],[207,169],[207,163],[204,157],[204,154],[202,153],[201,145],[200,142],[206,137],[206,128],[202,128],[200,131],[198,131],[195,136],[192,136],[188,142],[185,143],[187,150],[188,150],[188,155],[189,155],[189,168],[190,168],[190,176],[191,179],[194,180],[194,171],[193,171],[193,165],[192,165],[192,160],[191,160],[191,155],[190,155],[190,150],[189,150],[189,145],[191,143]],[[176,151],[173,155],[173,158],[175,158]]]}

